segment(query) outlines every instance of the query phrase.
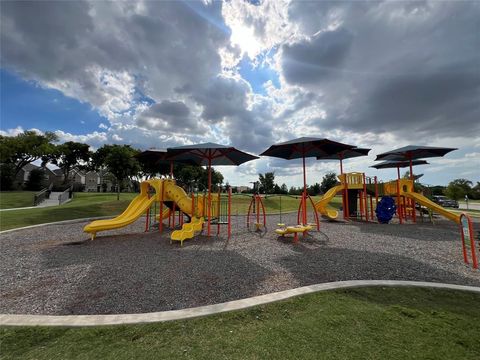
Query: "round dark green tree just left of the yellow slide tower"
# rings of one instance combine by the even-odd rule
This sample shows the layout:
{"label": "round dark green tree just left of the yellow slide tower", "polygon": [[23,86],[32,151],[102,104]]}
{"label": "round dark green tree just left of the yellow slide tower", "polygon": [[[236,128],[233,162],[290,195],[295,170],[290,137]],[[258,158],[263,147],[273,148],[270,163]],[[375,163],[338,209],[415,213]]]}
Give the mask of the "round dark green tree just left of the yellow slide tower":
{"label": "round dark green tree just left of the yellow slide tower", "polygon": [[121,183],[138,175],[140,165],[134,157],[138,150],[130,145],[104,145],[92,156],[95,166],[102,166],[117,180],[117,200],[120,200]]}

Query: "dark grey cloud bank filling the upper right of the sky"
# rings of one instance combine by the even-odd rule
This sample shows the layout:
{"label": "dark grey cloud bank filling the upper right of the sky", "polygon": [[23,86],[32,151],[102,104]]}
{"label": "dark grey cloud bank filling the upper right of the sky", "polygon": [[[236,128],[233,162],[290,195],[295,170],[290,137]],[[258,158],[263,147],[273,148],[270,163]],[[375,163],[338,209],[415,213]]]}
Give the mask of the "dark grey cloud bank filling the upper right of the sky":
{"label": "dark grey cloud bank filling the upper right of the sky", "polygon": [[[412,140],[480,131],[480,3],[300,2],[289,15],[307,34],[354,34],[284,47],[285,79],[322,94],[326,118],[309,125]],[[348,50],[325,66],[325,48]]]}

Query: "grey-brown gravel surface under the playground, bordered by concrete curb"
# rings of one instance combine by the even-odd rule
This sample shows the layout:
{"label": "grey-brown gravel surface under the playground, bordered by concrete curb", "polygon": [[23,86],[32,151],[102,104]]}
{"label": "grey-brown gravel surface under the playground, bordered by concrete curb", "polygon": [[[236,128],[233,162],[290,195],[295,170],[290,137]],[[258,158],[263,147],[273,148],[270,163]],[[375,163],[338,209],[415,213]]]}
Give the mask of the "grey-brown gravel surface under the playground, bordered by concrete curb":
{"label": "grey-brown gravel surface under the playground, bordered by concrete curb", "polygon": [[[293,224],[296,214],[283,216]],[[380,225],[322,221],[319,232],[292,238],[249,231],[233,218],[233,234],[199,235],[183,247],[168,233],[123,229],[82,232],[86,223],[49,225],[0,235],[0,313],[113,314],[181,309],[359,279],[480,286],[464,265],[457,225],[438,220]],[[478,227],[480,224],[476,224]]]}

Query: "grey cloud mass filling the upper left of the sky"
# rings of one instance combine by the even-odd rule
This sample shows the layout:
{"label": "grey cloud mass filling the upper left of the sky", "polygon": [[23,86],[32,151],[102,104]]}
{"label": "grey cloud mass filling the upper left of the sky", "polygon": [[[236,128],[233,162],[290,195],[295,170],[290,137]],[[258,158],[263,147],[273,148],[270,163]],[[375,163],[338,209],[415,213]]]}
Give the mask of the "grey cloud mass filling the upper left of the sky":
{"label": "grey cloud mass filling the upper left of the sky", "polygon": [[[126,72],[157,102],[221,71],[221,3],[1,2],[2,67],[101,107],[101,78]],[[200,85],[200,86],[199,86]]]}

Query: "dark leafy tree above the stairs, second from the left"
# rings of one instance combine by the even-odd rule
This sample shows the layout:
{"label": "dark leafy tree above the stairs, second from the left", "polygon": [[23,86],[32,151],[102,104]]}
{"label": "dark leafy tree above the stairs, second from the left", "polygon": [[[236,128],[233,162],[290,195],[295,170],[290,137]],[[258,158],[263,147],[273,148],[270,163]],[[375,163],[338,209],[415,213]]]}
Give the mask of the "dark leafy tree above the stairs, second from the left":
{"label": "dark leafy tree above the stairs, second from the left", "polygon": [[87,163],[91,152],[87,144],[67,141],[56,147],[56,152],[51,156],[51,162],[57,165],[63,172],[63,183],[67,183],[68,174],[80,162]]}

